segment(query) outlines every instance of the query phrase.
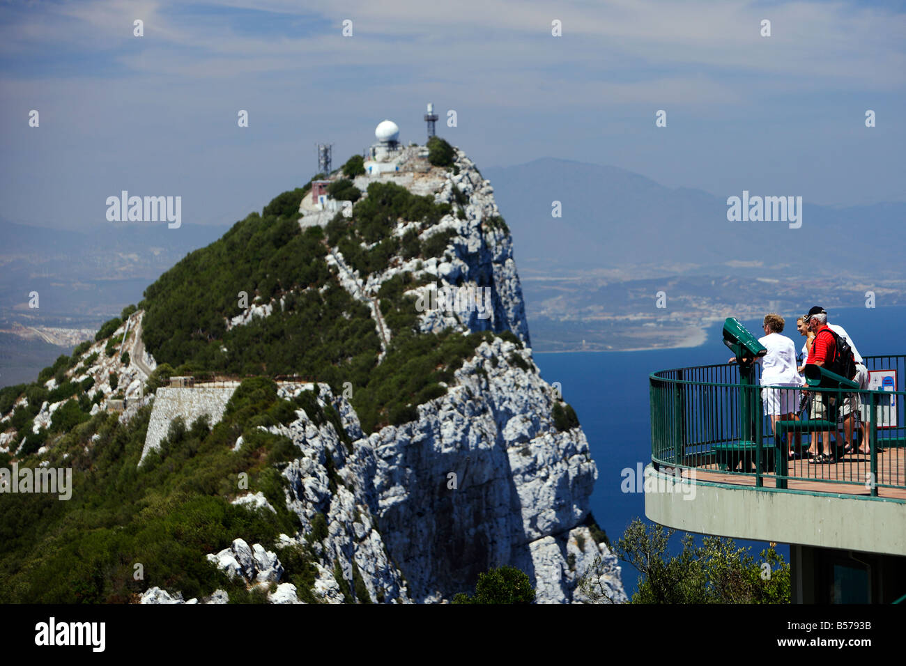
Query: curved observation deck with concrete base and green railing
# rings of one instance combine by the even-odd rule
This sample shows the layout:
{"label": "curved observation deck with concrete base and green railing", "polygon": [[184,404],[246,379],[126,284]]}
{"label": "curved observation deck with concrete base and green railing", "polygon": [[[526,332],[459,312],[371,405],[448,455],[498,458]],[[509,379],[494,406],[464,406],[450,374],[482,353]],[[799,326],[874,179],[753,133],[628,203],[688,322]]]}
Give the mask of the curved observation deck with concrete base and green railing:
{"label": "curved observation deck with concrete base and green railing", "polygon": [[[762,397],[795,391],[798,405],[798,388],[745,385],[737,365],[726,363],[652,372],[646,516],[687,532],[789,544],[794,602],[901,598],[906,356],[864,364],[882,390],[807,387],[833,406],[829,420],[781,421],[777,430],[788,429],[781,436],[763,415]],[[753,370],[760,379],[759,366]],[[843,405],[853,405],[853,394],[863,407],[849,408],[858,418],[846,447]],[[820,446],[824,431],[834,460],[813,462],[809,439],[816,432]],[[788,459],[791,447],[802,457]]]}

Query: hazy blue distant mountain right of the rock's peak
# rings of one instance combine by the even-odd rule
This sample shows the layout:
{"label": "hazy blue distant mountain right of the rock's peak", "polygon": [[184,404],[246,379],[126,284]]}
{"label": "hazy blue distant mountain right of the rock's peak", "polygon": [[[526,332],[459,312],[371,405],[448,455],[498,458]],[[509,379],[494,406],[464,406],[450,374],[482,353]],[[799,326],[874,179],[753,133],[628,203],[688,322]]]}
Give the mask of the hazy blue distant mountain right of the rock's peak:
{"label": "hazy blue distant mountain right of the rock's peak", "polygon": [[[494,185],[524,267],[715,266],[732,260],[802,265],[805,271],[808,246],[814,258],[845,270],[901,274],[906,203],[826,208],[805,201],[802,227],[789,228],[785,222],[728,221],[727,197],[742,191],[718,198],[666,188],[616,167],[542,158],[482,174]],[[551,216],[554,200],[563,217]]]}

